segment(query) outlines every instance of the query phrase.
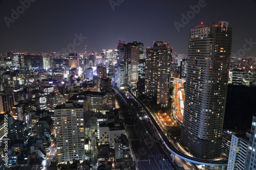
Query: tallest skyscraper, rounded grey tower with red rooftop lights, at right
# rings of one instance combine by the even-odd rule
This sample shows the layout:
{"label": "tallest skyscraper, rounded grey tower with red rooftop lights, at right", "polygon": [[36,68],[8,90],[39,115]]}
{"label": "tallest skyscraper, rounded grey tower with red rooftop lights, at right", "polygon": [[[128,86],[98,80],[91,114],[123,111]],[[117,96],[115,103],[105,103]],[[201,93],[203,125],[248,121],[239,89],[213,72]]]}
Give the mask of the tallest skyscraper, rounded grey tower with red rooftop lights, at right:
{"label": "tallest skyscraper, rounded grey tower with red rooftop lights, at right", "polygon": [[190,32],[181,142],[199,158],[221,153],[231,43],[227,21]]}

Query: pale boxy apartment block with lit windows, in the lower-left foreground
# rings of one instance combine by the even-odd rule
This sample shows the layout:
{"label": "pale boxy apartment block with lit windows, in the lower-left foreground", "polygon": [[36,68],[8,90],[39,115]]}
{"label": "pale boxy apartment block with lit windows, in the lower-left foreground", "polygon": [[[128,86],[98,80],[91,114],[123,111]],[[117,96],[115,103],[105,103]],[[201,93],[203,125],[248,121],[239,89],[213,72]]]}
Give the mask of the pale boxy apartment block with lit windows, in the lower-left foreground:
{"label": "pale boxy apartment block with lit windows, in the lower-left foreground", "polygon": [[85,160],[83,106],[73,102],[54,109],[58,163]]}

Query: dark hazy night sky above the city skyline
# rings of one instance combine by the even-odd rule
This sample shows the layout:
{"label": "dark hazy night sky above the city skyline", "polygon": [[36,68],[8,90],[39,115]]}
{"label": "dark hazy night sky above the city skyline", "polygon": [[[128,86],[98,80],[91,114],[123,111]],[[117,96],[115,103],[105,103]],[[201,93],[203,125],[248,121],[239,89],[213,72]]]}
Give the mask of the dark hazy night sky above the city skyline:
{"label": "dark hazy night sky above the city skyline", "polygon": [[[232,53],[243,49],[245,39],[251,39],[255,43],[250,44],[252,47],[244,57],[256,56],[255,0],[205,0],[206,5],[191,16],[180,32],[174,22],[182,23],[181,14],[187,15],[191,11],[189,6],[198,5],[202,0],[111,0],[119,2],[114,10],[109,0],[33,1],[24,12],[19,1],[0,1],[0,53],[58,52],[73,44],[75,34],[81,34],[87,38],[75,46],[78,53],[84,52],[84,45],[88,53],[114,50],[119,39],[124,39],[125,43],[143,42],[144,47],[153,46],[153,41],[168,41],[173,52],[187,54],[191,29],[201,22],[212,25],[212,22],[227,20],[233,28]],[[17,8],[21,11],[19,17],[8,27],[5,18],[12,19],[12,9],[16,12]]]}

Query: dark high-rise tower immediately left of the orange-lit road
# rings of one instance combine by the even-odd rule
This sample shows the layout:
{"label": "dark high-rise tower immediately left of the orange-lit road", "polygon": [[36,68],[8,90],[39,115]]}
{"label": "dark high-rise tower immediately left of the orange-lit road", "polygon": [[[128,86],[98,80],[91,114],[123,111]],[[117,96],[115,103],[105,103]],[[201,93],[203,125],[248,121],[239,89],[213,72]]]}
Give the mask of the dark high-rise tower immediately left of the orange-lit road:
{"label": "dark high-rise tower immediately left of the orange-lit road", "polygon": [[146,48],[145,95],[163,107],[168,105],[170,59],[172,48],[168,42],[157,41]]}

